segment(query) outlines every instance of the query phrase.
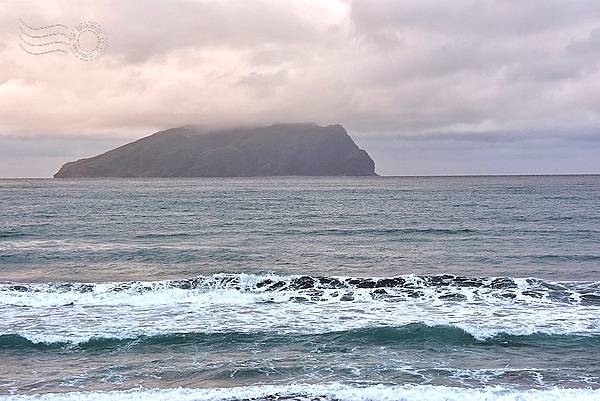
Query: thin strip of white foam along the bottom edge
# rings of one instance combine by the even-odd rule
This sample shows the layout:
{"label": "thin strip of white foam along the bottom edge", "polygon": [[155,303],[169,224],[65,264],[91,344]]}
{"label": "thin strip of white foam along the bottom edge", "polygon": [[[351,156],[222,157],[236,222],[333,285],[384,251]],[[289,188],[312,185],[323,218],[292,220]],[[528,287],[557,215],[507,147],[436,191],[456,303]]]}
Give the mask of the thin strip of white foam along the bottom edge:
{"label": "thin strip of white foam along the bottom edge", "polygon": [[592,389],[546,389],[516,390],[504,387],[458,388],[427,385],[402,386],[354,386],[345,384],[249,386],[218,389],[135,389],[128,391],[73,392],[62,394],[0,396],[0,400],[41,401],[221,401],[266,399],[340,401],[597,401],[600,390]]}

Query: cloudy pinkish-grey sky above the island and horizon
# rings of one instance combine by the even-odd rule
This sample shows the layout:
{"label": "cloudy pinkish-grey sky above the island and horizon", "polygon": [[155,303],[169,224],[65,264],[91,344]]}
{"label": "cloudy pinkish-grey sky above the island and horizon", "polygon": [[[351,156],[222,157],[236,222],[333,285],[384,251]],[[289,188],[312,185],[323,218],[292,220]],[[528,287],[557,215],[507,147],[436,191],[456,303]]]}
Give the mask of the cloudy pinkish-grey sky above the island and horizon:
{"label": "cloudy pinkish-grey sky above the island and horizon", "polygon": [[[93,60],[23,43],[84,21]],[[0,177],[277,122],[342,124],[384,175],[600,173],[600,3],[0,0]]]}

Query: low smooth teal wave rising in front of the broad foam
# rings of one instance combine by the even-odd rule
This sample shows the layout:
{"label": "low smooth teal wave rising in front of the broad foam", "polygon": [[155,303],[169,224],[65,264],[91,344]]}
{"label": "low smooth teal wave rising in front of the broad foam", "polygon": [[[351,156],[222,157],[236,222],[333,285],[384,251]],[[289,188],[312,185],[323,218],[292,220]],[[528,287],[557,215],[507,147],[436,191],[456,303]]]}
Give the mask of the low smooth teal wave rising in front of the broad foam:
{"label": "low smooth teal wave rising in front of the broad foam", "polygon": [[349,345],[396,346],[422,345],[437,346],[477,346],[495,345],[501,347],[521,346],[600,346],[600,336],[550,335],[535,333],[513,335],[498,333],[489,338],[478,338],[468,331],[449,325],[428,326],[410,323],[398,327],[368,327],[321,334],[276,334],[276,333],[171,333],[140,335],[135,337],[91,337],[74,340],[70,337],[28,336],[26,334],[0,335],[0,349],[76,349],[95,350],[113,348],[143,348],[146,346],[224,346],[228,344],[262,344],[273,347],[281,344],[307,343],[317,346],[346,347]]}

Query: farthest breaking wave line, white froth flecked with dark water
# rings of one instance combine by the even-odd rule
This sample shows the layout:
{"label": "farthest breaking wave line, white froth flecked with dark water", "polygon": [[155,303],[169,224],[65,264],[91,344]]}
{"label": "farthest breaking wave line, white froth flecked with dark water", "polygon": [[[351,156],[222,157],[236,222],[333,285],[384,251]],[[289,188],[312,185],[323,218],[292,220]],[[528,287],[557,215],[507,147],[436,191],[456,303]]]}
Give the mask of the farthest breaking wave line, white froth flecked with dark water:
{"label": "farthest breaking wave line, white froth flecked with dark water", "polygon": [[[211,297],[217,294],[216,297]],[[388,302],[507,301],[600,306],[600,282],[548,282],[536,278],[435,276],[356,278],[276,274],[214,274],[182,280],[108,283],[0,283],[0,305],[168,305],[261,301]]]}

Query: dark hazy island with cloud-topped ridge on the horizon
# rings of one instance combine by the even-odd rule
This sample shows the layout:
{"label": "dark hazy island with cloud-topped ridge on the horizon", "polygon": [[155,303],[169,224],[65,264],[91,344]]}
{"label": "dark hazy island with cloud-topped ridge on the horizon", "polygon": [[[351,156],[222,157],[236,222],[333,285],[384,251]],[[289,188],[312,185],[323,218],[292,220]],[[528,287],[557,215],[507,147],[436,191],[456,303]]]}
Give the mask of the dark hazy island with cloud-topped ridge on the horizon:
{"label": "dark hazy island with cloud-topped ridge on the horizon", "polygon": [[374,176],[373,159],[341,125],[275,124],[160,131],[66,163],[55,178]]}

